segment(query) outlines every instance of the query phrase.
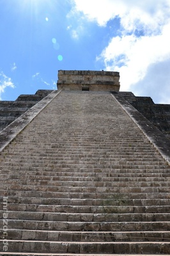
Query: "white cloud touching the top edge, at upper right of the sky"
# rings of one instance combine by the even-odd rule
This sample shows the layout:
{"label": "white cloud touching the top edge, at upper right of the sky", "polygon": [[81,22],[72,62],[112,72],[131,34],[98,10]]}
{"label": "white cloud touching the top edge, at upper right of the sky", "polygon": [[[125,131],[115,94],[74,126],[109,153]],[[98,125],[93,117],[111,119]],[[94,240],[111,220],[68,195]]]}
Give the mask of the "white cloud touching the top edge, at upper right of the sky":
{"label": "white cloud touching the top edge, at upper right of the sky", "polygon": [[169,0],[74,0],[74,3],[73,13],[82,12],[100,26],[120,17],[123,28],[128,31],[141,28],[141,25],[147,30],[150,26],[153,30],[169,19]]}

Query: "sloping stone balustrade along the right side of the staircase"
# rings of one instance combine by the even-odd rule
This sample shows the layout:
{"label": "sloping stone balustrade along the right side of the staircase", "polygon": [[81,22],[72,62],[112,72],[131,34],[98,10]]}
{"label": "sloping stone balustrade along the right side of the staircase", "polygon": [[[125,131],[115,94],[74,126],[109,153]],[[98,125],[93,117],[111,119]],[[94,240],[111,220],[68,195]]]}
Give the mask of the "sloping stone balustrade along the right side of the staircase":
{"label": "sloping stone balustrade along the right side of the staircase", "polygon": [[170,165],[170,140],[118,93],[111,92],[111,95]]}

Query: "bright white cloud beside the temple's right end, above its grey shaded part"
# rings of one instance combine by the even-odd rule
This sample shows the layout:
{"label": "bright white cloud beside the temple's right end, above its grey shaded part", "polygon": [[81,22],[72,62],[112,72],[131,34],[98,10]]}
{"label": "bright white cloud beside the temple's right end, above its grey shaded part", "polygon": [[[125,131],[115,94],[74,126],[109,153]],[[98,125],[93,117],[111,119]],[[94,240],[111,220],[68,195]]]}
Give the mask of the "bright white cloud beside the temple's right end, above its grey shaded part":
{"label": "bright white cloud beside the temple's right end, above its grey shaded part", "polygon": [[164,26],[161,35],[112,38],[100,58],[107,70],[120,72],[121,90],[128,90],[130,85],[141,81],[150,65],[170,58],[169,29],[170,24]]}

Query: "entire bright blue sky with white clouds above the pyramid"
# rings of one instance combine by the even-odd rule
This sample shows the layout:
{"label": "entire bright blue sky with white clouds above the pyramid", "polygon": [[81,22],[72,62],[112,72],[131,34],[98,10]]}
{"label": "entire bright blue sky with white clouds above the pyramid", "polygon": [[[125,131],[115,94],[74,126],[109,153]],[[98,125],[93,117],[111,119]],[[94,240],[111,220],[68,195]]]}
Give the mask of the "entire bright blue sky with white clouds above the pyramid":
{"label": "entire bright blue sky with white clouds above the pyramid", "polygon": [[0,0],[0,99],[56,89],[58,70],[120,72],[170,104],[170,0]]}

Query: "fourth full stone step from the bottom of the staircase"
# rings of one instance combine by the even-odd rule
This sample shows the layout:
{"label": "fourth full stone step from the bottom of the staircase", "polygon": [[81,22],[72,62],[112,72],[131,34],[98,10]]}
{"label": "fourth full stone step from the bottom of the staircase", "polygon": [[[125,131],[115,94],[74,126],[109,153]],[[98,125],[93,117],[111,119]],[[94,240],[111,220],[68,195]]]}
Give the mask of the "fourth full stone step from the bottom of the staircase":
{"label": "fourth full stone step from the bottom of the staircase", "polygon": [[38,220],[38,221],[94,221],[94,222],[154,222],[169,221],[170,213],[126,213],[126,214],[98,214],[98,213],[66,213],[66,212],[26,212],[8,211],[8,220]]}

